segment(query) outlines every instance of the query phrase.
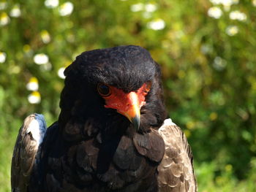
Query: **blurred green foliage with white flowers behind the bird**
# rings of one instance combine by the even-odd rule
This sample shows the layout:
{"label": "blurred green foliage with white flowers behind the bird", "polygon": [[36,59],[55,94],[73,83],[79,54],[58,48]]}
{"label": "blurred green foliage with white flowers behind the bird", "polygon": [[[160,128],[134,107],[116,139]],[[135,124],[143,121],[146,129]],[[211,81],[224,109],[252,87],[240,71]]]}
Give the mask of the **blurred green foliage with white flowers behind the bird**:
{"label": "blurred green foliage with white flowers behind the bird", "polygon": [[0,0],[0,191],[23,119],[58,118],[64,68],[140,45],[192,145],[200,191],[256,191],[256,0]]}

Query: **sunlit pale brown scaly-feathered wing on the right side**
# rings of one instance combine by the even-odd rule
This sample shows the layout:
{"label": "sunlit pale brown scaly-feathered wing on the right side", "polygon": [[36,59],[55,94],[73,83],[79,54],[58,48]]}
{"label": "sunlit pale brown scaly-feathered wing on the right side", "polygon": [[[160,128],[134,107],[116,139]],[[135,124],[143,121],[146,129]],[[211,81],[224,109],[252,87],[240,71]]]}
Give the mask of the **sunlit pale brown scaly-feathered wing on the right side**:
{"label": "sunlit pale brown scaly-feathered wing on the right side", "polygon": [[192,150],[184,133],[167,119],[159,128],[159,134],[165,141],[165,155],[157,168],[159,191],[197,191]]}

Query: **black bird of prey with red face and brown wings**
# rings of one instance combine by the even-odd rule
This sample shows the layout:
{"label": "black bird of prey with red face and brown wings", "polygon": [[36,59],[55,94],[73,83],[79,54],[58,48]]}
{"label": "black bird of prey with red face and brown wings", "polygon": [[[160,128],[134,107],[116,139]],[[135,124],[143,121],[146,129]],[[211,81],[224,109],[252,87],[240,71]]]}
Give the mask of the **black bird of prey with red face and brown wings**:
{"label": "black bird of prey with red face and brown wings", "polygon": [[89,50],[64,71],[59,119],[20,127],[12,192],[197,191],[192,150],[165,110],[161,69],[137,45]]}

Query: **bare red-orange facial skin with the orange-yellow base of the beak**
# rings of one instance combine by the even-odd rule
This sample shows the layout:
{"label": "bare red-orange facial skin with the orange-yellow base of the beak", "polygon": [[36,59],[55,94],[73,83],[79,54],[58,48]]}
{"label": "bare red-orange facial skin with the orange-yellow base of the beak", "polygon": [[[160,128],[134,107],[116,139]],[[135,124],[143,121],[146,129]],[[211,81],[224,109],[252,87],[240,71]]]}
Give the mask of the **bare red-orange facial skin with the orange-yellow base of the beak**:
{"label": "bare red-orange facial skin with the orange-yellow base of the beak", "polygon": [[110,96],[102,96],[105,99],[105,107],[116,109],[129,120],[136,115],[140,116],[140,107],[146,104],[145,97],[150,90],[151,83],[144,83],[137,91],[124,93],[121,89],[109,86]]}

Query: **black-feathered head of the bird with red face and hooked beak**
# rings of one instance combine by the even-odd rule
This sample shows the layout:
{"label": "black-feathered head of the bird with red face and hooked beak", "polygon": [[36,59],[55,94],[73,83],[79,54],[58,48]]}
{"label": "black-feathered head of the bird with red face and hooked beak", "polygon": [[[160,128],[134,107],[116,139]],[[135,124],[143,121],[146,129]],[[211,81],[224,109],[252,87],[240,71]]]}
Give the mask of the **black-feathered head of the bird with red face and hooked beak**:
{"label": "black-feathered head of the bird with red face and hooked beak", "polygon": [[159,65],[142,47],[84,52],[64,74],[62,119],[121,114],[139,130],[160,126],[166,117]]}

